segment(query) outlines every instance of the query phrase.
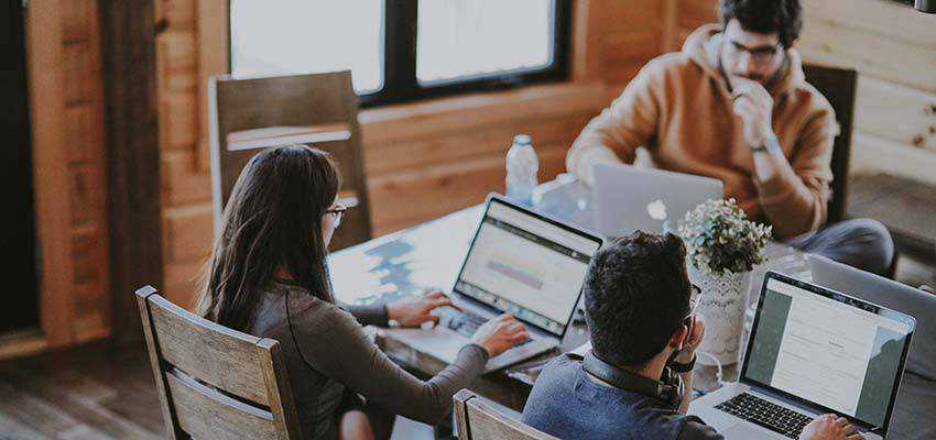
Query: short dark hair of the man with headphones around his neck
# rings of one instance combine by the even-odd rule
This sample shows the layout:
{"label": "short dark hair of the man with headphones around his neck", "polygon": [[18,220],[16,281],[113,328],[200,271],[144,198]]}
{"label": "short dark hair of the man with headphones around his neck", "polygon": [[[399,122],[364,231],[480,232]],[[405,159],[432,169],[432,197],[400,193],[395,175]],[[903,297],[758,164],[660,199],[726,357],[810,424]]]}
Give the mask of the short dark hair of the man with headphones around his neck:
{"label": "short dark hair of the man with headphones around his neck", "polygon": [[641,231],[614,239],[585,276],[595,355],[619,366],[645,365],[679,330],[690,290],[682,239]]}

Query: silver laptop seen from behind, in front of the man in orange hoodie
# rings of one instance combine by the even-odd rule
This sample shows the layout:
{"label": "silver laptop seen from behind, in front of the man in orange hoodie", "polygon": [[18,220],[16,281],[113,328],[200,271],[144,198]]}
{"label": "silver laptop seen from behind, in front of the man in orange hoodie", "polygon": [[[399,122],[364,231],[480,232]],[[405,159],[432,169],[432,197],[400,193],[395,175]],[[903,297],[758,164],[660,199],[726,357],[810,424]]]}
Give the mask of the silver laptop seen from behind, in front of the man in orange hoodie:
{"label": "silver laptop seen from behind, in front of the man in orange hoodie", "polygon": [[594,176],[596,224],[605,237],[666,232],[667,220],[675,228],[697,205],[725,194],[719,179],[625,164],[597,163]]}

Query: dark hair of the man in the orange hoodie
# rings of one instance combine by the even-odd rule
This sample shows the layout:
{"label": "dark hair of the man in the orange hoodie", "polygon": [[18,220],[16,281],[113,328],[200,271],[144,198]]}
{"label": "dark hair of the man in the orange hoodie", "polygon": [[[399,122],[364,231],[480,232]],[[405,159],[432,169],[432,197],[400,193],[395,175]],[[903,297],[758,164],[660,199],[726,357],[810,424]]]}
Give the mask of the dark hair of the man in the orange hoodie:
{"label": "dark hair of the man in the orange hoodie", "polygon": [[718,15],[722,28],[727,28],[731,19],[738,19],[745,31],[776,32],[784,48],[790,48],[799,38],[803,29],[799,0],[719,0]]}

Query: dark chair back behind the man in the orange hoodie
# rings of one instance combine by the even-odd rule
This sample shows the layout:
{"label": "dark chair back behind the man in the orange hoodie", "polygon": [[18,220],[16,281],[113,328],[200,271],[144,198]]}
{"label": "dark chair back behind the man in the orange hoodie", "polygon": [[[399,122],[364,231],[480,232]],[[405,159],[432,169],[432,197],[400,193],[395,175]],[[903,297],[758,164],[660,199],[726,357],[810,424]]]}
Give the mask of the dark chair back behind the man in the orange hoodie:
{"label": "dark chair back behind the man in the orange hoodie", "polygon": [[851,160],[851,132],[855,119],[855,94],[858,72],[838,67],[805,65],[806,82],[819,90],[832,106],[839,134],[832,145],[831,197],[828,202],[827,223],[845,220],[848,208],[848,167]]}

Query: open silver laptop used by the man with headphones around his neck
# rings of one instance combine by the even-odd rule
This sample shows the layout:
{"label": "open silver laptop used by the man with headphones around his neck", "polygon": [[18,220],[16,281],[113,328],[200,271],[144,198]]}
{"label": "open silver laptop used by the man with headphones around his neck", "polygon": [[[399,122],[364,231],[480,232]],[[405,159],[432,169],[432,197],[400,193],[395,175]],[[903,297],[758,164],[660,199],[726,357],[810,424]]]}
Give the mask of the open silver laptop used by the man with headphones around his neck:
{"label": "open silver laptop used by the man with headphones around his neck", "polygon": [[726,439],[796,439],[830,413],[884,439],[915,328],[908,315],[769,272],[740,382],[689,414]]}

